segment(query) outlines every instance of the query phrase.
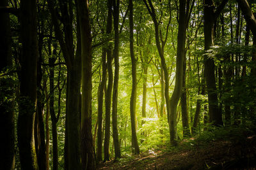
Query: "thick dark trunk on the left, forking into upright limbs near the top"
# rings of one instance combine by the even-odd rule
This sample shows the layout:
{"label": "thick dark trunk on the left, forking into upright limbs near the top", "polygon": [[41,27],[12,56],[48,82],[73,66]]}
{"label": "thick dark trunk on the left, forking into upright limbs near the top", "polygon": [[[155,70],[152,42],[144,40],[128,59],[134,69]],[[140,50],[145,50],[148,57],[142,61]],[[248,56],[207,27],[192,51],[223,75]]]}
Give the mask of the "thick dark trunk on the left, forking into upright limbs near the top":
{"label": "thick dark trunk on the left, forking into upright limbs near the top", "polygon": [[[77,53],[74,55],[73,42],[73,6],[72,1],[61,1],[61,16],[63,33],[58,24],[58,10],[54,9],[52,0],[47,0],[51,12],[52,24],[56,39],[60,43],[63,57],[67,64],[67,104],[65,128],[65,167],[67,169],[81,169],[81,142],[80,142],[80,111],[79,96],[81,88],[81,53],[79,52],[79,36],[77,36]],[[78,27],[78,26],[77,26]],[[77,31],[79,34],[79,31]],[[81,50],[81,48],[80,48]]]}

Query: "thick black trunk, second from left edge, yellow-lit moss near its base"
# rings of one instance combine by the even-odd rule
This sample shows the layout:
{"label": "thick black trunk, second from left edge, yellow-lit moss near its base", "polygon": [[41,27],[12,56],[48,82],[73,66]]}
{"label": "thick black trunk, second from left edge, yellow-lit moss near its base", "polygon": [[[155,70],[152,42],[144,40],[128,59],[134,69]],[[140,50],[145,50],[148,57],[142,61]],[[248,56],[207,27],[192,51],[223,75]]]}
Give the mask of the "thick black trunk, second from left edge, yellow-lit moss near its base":
{"label": "thick black trunk, second from left edge, yellow-lit moss near its base", "polygon": [[20,12],[22,55],[20,56],[20,99],[17,124],[20,166],[21,169],[38,169],[34,138],[38,59],[36,1],[20,1]]}

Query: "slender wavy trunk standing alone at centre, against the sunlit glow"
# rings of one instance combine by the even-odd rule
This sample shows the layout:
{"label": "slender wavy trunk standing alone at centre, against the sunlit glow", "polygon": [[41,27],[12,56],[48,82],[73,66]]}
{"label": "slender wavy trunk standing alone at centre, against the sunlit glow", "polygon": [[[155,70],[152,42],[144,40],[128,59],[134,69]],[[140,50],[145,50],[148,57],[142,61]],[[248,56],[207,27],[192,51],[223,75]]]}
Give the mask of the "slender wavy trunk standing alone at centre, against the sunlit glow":
{"label": "slender wavy trunk standing alone at centre, against the sunlit glow", "polygon": [[130,26],[130,55],[132,61],[132,93],[130,101],[130,113],[131,113],[131,129],[132,129],[132,152],[140,154],[140,148],[138,145],[138,139],[136,134],[136,92],[137,92],[137,78],[136,78],[136,58],[134,57],[133,49],[133,4],[132,0],[129,0],[129,26]]}

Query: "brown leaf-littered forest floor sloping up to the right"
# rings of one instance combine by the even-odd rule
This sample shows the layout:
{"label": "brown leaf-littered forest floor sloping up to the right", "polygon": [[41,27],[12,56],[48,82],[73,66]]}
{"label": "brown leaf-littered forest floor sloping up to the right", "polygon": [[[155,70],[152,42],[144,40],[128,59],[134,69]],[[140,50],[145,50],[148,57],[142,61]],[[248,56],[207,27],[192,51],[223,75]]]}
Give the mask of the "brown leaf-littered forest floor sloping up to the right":
{"label": "brown leaf-littered forest floor sloping up to the right", "polygon": [[255,133],[234,130],[231,135],[208,137],[186,139],[168,150],[123,156],[100,163],[97,169],[256,169]]}

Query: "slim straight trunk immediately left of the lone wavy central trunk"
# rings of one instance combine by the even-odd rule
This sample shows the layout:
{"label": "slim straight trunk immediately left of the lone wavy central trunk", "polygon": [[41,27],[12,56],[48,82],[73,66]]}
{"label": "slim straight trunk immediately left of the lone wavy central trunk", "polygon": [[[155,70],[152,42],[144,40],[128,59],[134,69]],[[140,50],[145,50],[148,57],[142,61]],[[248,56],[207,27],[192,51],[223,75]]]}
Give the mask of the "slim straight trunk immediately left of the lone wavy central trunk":
{"label": "slim straight trunk immediately left of the lone wavy central trunk", "polygon": [[113,0],[113,18],[114,18],[114,31],[115,31],[115,47],[114,47],[114,58],[115,58],[115,78],[113,85],[113,108],[112,108],[112,125],[113,125],[113,144],[115,146],[115,159],[121,157],[120,145],[118,140],[118,129],[117,129],[117,101],[118,101],[118,80],[119,80],[119,6],[120,0]]}

